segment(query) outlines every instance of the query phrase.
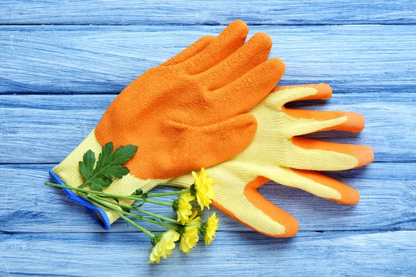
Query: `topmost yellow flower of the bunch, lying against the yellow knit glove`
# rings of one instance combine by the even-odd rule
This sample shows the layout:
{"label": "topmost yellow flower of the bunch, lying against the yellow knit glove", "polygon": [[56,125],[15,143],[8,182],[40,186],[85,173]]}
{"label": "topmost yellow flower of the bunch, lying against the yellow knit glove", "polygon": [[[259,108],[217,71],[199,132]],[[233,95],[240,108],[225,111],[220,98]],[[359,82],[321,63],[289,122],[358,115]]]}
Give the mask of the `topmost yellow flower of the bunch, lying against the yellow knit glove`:
{"label": "topmost yellow flower of the bunch, lying against the yellow knit glove", "polygon": [[201,168],[199,176],[194,171],[192,175],[195,178],[195,187],[194,189],[191,187],[191,190],[194,190],[193,194],[196,195],[201,211],[203,211],[204,207],[209,208],[209,204],[212,203],[211,199],[214,198],[214,188],[212,188],[214,179],[208,178],[205,168]]}

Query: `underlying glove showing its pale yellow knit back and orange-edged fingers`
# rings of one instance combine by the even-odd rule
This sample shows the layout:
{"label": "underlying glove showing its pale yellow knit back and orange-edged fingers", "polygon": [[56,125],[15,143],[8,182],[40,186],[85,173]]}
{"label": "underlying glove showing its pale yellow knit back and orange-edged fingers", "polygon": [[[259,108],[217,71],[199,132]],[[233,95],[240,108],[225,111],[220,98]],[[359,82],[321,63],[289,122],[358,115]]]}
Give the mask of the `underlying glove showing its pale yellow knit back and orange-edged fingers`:
{"label": "underlying glove showing its pale yellow knit back and orange-edged fingers", "polygon": [[[209,177],[214,179],[213,205],[260,233],[286,238],[297,233],[297,221],[257,191],[270,180],[340,204],[357,204],[359,194],[354,188],[313,170],[365,166],[374,158],[372,148],[300,136],[327,130],[360,132],[364,127],[363,116],[345,111],[284,107],[294,100],[327,99],[331,93],[327,84],[277,87],[250,110],[258,127],[248,148],[232,159],[207,168]],[[187,188],[192,182],[193,176],[187,174],[172,179],[169,184]]]}

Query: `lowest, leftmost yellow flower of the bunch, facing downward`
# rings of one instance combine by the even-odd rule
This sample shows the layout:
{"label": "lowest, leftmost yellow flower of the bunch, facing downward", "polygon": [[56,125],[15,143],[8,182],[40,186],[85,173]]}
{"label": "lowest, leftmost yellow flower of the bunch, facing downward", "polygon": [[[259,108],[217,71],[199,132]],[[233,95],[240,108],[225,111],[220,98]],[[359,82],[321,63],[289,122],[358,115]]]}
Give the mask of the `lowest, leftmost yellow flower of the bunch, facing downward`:
{"label": "lowest, leftmost yellow flower of the bunch, facing downward", "polygon": [[180,235],[174,230],[168,230],[163,234],[157,234],[152,238],[152,252],[148,263],[160,262],[160,258],[166,259],[167,255],[171,255],[172,249],[175,248],[175,242],[179,240]]}

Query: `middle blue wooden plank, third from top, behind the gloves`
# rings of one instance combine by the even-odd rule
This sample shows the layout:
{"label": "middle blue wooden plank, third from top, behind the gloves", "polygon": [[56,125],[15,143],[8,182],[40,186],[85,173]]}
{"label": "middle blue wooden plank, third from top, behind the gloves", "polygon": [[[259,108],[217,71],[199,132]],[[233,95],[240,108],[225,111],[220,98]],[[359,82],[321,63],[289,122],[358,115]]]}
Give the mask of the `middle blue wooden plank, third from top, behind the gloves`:
{"label": "middle blue wooden plank, third from top, behind the gloves", "polygon": [[[114,95],[3,95],[0,163],[60,163],[85,139]],[[415,161],[416,93],[338,93],[292,107],[345,110],[365,116],[360,134],[322,132],[311,138],[370,145],[376,161]],[[399,126],[398,126],[399,125]]]}

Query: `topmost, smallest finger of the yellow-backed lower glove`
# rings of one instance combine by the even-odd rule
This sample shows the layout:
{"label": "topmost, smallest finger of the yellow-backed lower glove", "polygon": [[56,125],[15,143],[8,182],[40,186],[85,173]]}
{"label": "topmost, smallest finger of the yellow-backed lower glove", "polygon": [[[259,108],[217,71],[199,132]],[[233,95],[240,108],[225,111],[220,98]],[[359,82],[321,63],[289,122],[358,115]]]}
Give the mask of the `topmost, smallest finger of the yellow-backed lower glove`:
{"label": "topmost, smallest finger of the yellow-backed lower glove", "polygon": [[267,99],[268,105],[281,109],[286,103],[297,100],[327,100],[332,96],[329,84],[300,84],[275,87]]}

